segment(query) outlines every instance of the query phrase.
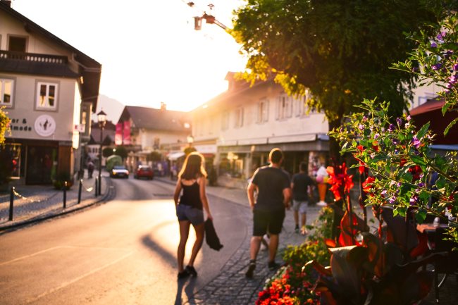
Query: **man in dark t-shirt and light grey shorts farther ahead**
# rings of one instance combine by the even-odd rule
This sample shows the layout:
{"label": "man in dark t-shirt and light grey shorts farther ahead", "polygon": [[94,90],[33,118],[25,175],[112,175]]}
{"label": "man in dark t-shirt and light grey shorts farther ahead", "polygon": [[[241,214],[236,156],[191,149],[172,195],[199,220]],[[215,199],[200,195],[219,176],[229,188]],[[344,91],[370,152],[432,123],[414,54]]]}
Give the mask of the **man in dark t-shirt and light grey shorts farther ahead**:
{"label": "man in dark t-shirt and light grey shorts farther ahead", "polygon": [[292,211],[295,219],[295,232],[299,233],[299,213],[301,215],[301,229],[302,235],[307,234],[305,224],[307,222],[307,205],[309,200],[313,197],[312,187],[314,180],[307,174],[307,163],[301,162],[299,164],[299,173],[292,176],[291,189],[292,189]]}

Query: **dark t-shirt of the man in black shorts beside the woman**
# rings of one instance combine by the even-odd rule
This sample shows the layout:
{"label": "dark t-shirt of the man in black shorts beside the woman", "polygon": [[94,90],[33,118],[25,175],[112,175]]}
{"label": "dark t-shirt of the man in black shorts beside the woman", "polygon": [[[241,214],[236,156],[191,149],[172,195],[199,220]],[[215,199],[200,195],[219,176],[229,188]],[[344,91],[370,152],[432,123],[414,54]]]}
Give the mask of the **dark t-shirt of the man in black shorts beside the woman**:
{"label": "dark t-shirt of the man in black shorts beside the woman", "polygon": [[252,183],[258,187],[259,193],[254,205],[259,211],[278,211],[284,209],[283,189],[290,187],[290,175],[280,168],[263,166],[254,174]]}

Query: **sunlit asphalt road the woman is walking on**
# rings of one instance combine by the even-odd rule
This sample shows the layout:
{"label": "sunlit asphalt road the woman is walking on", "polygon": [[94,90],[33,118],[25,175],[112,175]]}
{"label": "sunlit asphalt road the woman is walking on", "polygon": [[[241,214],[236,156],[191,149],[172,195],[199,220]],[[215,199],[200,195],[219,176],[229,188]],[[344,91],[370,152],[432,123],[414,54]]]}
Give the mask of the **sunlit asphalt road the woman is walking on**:
{"label": "sunlit asphalt road the woman is walking on", "polygon": [[224,247],[204,244],[199,277],[178,282],[173,185],[132,178],[113,185],[106,204],[0,236],[0,304],[184,304],[248,234],[246,207],[210,197]]}

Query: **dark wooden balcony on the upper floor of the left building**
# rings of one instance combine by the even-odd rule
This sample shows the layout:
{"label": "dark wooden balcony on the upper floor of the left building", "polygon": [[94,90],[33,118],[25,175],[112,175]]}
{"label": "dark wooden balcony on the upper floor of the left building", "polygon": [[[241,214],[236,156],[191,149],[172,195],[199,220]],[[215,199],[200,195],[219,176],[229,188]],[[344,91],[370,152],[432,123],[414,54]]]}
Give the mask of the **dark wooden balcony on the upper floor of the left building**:
{"label": "dark wooden balcony on the upper floor of the left building", "polygon": [[0,72],[78,77],[70,69],[67,56],[0,50]]}

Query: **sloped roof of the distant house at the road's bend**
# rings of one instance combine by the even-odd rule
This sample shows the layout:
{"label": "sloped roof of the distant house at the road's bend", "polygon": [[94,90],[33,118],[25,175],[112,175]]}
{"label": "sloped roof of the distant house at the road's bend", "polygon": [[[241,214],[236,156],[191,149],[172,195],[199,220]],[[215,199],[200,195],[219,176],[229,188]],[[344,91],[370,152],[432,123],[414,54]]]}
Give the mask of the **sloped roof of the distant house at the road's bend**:
{"label": "sloped roof of the distant house at the road's bend", "polygon": [[119,121],[123,122],[128,118],[132,119],[133,127],[146,130],[184,132],[190,130],[185,128],[185,123],[191,123],[189,114],[186,112],[141,106],[125,106]]}

